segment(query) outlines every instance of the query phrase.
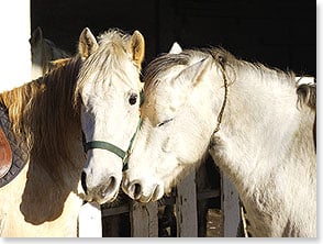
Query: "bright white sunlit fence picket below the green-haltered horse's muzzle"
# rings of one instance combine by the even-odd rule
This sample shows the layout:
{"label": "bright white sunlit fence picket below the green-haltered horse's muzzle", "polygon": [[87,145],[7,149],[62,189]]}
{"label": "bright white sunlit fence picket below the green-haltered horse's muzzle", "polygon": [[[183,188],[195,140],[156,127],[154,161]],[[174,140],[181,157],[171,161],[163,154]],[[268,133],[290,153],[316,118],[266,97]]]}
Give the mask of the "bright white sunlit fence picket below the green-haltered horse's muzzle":
{"label": "bright white sunlit fence picket below the green-haltered horse's muzzle", "polygon": [[101,207],[94,202],[87,202],[79,211],[79,237],[102,237]]}

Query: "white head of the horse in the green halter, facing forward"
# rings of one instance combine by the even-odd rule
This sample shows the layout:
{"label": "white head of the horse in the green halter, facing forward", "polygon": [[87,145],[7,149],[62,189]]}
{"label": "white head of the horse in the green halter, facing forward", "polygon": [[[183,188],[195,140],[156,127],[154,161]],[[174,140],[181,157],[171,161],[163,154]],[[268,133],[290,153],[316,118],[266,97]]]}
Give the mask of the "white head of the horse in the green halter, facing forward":
{"label": "white head of the horse in the green halter, facing forward", "polygon": [[110,30],[97,42],[89,29],[79,38],[83,59],[77,84],[86,165],[81,187],[88,201],[113,201],[130,142],[140,121],[144,37]]}

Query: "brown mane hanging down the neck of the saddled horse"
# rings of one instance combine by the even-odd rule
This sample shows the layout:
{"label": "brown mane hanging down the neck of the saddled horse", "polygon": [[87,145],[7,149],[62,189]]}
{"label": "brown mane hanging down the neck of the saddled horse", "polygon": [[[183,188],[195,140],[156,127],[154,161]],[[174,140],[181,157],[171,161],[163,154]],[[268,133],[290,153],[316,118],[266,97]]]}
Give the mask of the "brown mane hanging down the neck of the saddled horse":
{"label": "brown mane hanging down the neck of the saddled horse", "polygon": [[58,160],[69,158],[68,136],[80,127],[74,103],[80,66],[78,56],[65,59],[44,77],[0,93],[13,133],[26,143],[30,160],[47,162],[45,168],[51,174]]}

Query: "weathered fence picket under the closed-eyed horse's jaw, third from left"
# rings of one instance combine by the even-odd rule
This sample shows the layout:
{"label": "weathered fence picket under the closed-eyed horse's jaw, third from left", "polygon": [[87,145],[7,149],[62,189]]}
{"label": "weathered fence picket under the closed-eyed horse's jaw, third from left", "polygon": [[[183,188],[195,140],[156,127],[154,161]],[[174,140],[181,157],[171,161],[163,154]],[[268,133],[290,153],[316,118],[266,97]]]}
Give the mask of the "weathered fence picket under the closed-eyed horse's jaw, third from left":
{"label": "weathered fence picket under the closed-eyed horse's jaw, third from left", "polygon": [[198,237],[196,170],[177,185],[177,236]]}

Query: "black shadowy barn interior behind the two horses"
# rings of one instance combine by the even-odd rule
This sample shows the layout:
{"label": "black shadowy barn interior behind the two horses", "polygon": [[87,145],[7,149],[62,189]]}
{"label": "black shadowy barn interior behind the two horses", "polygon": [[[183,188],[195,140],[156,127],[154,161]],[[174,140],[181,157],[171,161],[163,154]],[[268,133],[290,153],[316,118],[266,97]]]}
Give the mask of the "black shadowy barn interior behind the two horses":
{"label": "black shadowy barn interior behind the two horses", "polygon": [[[86,26],[94,35],[110,27],[138,30],[146,42],[144,68],[177,41],[183,48],[221,46],[249,62],[316,76],[316,2],[312,0],[31,0],[31,32],[42,27],[44,37],[71,54]],[[212,160],[205,168],[207,181],[219,187]],[[220,207],[213,202],[209,208]],[[118,234],[109,234],[113,224],[107,223],[103,235],[129,236],[124,222],[129,215],[122,218]],[[205,236],[202,229],[199,236]]]}

